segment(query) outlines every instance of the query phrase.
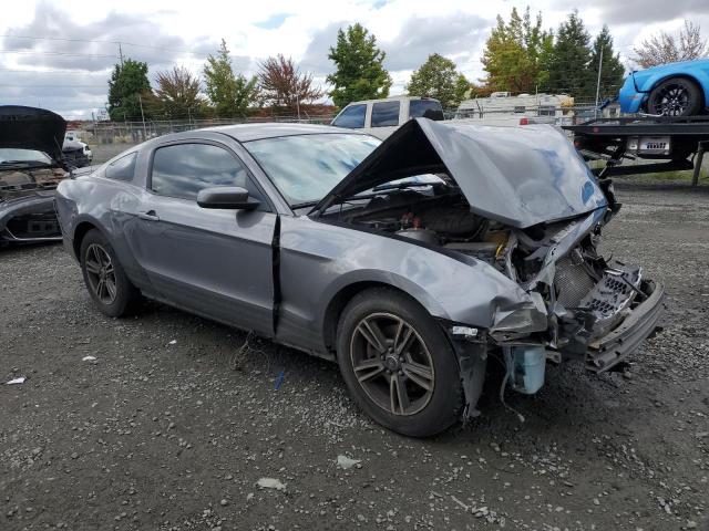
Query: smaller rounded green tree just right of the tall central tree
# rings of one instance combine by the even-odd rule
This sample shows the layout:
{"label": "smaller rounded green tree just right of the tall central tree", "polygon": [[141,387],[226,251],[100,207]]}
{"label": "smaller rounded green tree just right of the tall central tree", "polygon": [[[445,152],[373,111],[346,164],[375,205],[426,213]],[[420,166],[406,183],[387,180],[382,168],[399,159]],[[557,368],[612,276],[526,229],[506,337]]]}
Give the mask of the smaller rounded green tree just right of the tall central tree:
{"label": "smaller rounded green tree just right of the tall central tree", "polygon": [[[460,77],[461,74],[455,70],[453,61],[432,53],[425,63],[411,74],[407,92],[412,96],[435,97],[443,108],[455,107],[461,101]],[[463,83],[467,84],[465,77]],[[467,86],[464,88],[467,90]]]}

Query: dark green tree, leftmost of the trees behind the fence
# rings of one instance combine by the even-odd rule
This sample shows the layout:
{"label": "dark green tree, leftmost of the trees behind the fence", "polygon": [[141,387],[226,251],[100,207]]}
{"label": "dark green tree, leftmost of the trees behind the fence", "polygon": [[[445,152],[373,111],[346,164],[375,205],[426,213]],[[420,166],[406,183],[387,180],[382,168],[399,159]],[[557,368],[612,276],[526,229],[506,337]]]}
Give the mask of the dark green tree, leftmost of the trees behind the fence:
{"label": "dark green tree, leftmost of the trees behind the fence", "polygon": [[109,115],[111,119],[141,119],[141,97],[148,94],[147,63],[126,59],[116,64],[109,80]]}

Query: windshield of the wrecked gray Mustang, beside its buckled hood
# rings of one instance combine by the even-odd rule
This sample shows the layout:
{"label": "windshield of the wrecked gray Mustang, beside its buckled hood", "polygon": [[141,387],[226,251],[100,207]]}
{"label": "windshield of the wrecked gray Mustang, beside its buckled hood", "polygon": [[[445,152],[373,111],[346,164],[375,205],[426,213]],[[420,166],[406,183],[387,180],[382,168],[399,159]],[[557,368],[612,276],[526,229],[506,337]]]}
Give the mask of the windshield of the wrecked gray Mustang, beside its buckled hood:
{"label": "windshield of the wrecked gray Mustang, beside its buckled hood", "polygon": [[244,146],[292,207],[323,198],[379,144],[367,135],[321,134],[264,138]]}

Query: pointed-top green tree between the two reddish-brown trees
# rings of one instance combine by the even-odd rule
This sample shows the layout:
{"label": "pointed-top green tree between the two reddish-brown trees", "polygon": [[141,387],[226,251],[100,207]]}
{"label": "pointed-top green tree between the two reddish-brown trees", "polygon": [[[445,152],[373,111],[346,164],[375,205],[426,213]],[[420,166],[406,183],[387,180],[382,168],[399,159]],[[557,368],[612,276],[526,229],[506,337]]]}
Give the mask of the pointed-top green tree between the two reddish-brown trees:
{"label": "pointed-top green tree between the two reddish-brown trees", "polygon": [[243,74],[234,73],[224,39],[216,56],[207,58],[204,81],[207,96],[219,116],[244,115],[258,100],[257,77],[248,80]]}

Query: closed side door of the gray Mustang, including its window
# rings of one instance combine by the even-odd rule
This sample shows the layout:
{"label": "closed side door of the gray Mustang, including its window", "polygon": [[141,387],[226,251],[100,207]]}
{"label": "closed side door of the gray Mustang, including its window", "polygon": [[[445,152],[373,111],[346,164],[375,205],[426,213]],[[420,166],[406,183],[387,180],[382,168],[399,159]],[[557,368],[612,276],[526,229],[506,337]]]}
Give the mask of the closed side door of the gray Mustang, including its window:
{"label": "closed side door of the gray Mustang, including its window", "polygon": [[[240,186],[255,210],[205,209],[197,192]],[[133,232],[134,253],[156,296],[189,311],[273,333],[273,239],[277,216],[227,146],[183,140],[158,146]]]}

